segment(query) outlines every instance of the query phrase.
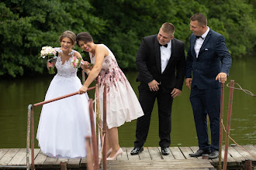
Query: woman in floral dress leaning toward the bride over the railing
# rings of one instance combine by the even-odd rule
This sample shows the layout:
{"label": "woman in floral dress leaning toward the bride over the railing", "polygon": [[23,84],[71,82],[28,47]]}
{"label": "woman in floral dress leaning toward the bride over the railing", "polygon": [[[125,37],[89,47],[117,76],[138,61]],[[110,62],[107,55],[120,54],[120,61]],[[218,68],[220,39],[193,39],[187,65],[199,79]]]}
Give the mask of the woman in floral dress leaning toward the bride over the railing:
{"label": "woman in floral dress leaning toward the bride over the railing", "polygon": [[[107,156],[109,155],[109,158],[107,160],[115,160],[117,156],[123,154],[122,148],[119,146],[117,127],[143,116],[144,113],[133,88],[119,68],[110,49],[104,44],[95,44],[88,32],[80,32],[77,42],[81,49],[89,53],[91,63],[94,63],[92,70],[89,69],[89,66],[85,69],[88,78],[79,90],[80,93],[85,93],[97,76],[99,77],[99,94],[102,94],[104,84],[106,84],[106,124],[109,137],[107,141],[109,153]],[[102,113],[102,95],[99,97],[99,103]]]}

